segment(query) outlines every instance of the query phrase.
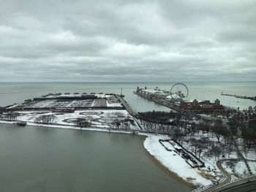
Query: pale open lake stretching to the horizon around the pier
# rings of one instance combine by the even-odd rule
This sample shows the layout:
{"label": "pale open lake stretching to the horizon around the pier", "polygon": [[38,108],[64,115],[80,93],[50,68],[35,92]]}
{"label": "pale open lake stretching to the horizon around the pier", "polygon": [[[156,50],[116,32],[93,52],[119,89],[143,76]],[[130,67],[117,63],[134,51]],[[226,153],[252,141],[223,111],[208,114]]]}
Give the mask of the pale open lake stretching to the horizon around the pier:
{"label": "pale open lake stretching to the horizon around the pier", "polygon": [[[170,91],[176,82],[0,82],[0,106],[6,106],[25,99],[31,99],[48,93],[121,93],[125,99],[138,111],[165,110],[154,102],[142,99],[133,94],[139,85],[140,88],[159,88]],[[256,96],[256,82],[185,82],[189,88],[190,99],[208,99],[214,101],[220,99],[221,104],[228,107],[239,107],[241,110],[249,106],[256,106],[256,101],[248,99],[236,99],[230,96],[221,96],[223,93],[231,93],[241,96]]]}

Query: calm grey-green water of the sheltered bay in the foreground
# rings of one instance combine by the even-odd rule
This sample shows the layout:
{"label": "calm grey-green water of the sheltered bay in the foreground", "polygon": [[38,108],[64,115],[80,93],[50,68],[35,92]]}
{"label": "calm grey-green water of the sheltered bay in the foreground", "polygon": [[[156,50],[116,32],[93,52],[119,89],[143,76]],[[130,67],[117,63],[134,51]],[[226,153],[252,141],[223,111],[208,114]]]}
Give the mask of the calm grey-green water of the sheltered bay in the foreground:
{"label": "calm grey-green water of the sheltered bay in the foreground", "polygon": [[0,191],[189,191],[144,137],[0,124]]}

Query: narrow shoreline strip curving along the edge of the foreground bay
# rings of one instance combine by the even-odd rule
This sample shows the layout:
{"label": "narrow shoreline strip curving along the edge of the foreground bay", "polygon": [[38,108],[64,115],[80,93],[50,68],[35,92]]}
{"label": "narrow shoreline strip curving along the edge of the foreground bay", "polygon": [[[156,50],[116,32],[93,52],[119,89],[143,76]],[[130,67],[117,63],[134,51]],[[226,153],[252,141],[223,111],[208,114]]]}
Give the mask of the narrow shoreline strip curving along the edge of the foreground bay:
{"label": "narrow shoreline strip curving along the edge of the foreground bay", "polygon": [[[0,120],[0,123],[4,124],[16,124],[15,121],[4,121]],[[108,130],[105,128],[76,128],[75,126],[67,126],[67,125],[50,125],[50,124],[38,124],[38,123],[28,123],[27,126],[38,126],[38,127],[45,127],[45,128],[64,128],[64,129],[72,129],[72,130],[78,130],[78,131],[99,131],[99,132],[105,132],[105,133],[114,133],[114,134],[133,134],[133,131],[121,131],[121,130]],[[182,183],[184,185],[187,185],[190,189],[199,188],[200,185],[195,185],[193,183],[189,183],[187,180],[184,180],[181,176],[179,176],[176,172],[171,171],[167,166],[162,164],[161,161],[159,161],[154,155],[152,155],[145,147],[145,142],[148,136],[155,136],[156,134],[147,134],[139,132],[139,136],[143,136],[143,150],[145,150],[146,155],[148,155],[149,158],[156,164],[162,171],[167,173],[170,177],[172,177],[174,180],[178,181],[178,183]],[[159,136],[159,134],[157,134]]]}

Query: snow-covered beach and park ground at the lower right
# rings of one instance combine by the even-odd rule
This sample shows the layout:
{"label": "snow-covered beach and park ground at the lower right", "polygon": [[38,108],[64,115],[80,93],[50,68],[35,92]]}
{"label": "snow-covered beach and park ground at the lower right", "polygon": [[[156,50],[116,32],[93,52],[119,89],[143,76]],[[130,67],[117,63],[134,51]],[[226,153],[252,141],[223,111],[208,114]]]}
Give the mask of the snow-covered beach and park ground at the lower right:
{"label": "snow-covered beach and park ground at the lower right", "polygon": [[[199,138],[202,136],[206,135],[198,135]],[[178,177],[181,177],[188,183],[203,186],[211,184],[212,182],[221,182],[225,178],[217,166],[217,161],[219,159],[223,159],[221,155],[219,155],[217,158],[214,156],[208,156],[205,154],[205,150],[203,151],[201,160],[205,162],[206,166],[200,169],[193,169],[191,166],[189,166],[189,164],[186,163],[184,158],[181,158],[181,156],[175,152],[175,147],[170,145],[170,142],[162,142],[163,145],[167,147],[168,150],[166,150],[165,147],[160,144],[159,139],[165,140],[171,138],[165,135],[148,134],[148,138],[144,142],[144,147],[163,166],[165,166],[171,172],[176,173]],[[215,141],[214,138],[211,138],[210,140]],[[223,138],[221,138],[220,141],[221,142],[219,145],[222,145],[222,142],[224,142]],[[183,147],[187,148],[189,151],[192,151],[192,146],[189,143],[184,142]],[[226,158],[238,158],[236,151],[232,151]],[[252,174],[256,174],[256,161],[254,160],[247,162],[252,170]],[[224,163],[222,163],[222,167],[232,175],[232,180],[238,180],[250,176],[244,161],[224,161]]]}

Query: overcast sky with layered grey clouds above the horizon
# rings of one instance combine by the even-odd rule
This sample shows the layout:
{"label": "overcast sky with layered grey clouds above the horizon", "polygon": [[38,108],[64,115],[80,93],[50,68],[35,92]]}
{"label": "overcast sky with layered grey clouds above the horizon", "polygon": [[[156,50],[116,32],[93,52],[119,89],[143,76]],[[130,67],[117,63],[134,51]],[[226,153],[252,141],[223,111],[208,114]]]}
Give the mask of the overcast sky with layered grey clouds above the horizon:
{"label": "overcast sky with layered grey clouds above the horizon", "polygon": [[255,0],[0,4],[0,81],[256,80]]}

